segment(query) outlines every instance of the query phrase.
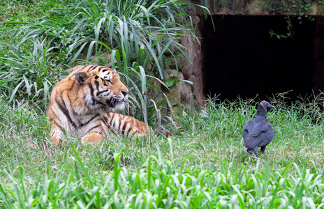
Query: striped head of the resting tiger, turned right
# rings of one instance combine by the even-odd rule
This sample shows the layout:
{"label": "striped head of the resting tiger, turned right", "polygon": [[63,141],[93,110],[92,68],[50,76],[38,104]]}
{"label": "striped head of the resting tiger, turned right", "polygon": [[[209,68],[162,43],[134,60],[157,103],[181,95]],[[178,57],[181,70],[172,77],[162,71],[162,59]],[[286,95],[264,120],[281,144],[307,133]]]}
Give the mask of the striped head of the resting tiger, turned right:
{"label": "striped head of the resting tiger, turned right", "polygon": [[121,82],[116,70],[87,65],[75,73],[75,79],[84,88],[84,102],[90,109],[124,109],[128,88]]}

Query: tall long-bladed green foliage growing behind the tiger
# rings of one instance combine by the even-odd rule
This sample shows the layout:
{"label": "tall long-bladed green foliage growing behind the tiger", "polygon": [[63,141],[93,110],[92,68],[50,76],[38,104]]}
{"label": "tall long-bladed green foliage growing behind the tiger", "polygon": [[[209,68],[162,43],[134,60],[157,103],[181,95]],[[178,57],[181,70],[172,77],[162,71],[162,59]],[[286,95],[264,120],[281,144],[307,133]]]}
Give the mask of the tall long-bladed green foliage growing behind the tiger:
{"label": "tall long-bladed green foliage growing behind the tiger", "polygon": [[[164,52],[185,54],[176,41],[182,31],[196,37],[186,15],[191,3],[101,0],[69,5],[53,6],[40,18],[6,23],[16,26],[13,47],[0,59],[0,84],[8,101],[26,98],[46,104],[54,82],[66,75],[61,69],[75,61],[101,61],[124,75],[133,89],[132,103],[141,109],[133,115],[147,122],[147,88],[156,88],[149,79],[163,83]],[[106,54],[108,61],[103,61]]]}

